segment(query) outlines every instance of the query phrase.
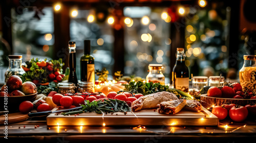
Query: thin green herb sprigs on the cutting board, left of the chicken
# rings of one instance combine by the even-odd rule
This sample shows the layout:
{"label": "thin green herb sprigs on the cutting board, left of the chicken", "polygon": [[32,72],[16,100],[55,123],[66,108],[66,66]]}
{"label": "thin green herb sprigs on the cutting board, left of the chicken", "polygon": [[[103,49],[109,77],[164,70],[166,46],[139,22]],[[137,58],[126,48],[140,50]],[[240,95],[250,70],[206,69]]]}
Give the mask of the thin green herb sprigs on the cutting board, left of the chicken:
{"label": "thin green herb sprigs on the cutting board, left of the chicken", "polygon": [[117,99],[104,99],[104,100],[98,100],[98,101],[88,101],[84,100],[84,105],[82,106],[81,110],[77,111],[71,111],[71,112],[65,112],[62,113],[64,115],[69,114],[77,114],[82,112],[95,112],[102,114],[104,112],[130,112],[132,109],[129,107],[129,105],[126,104],[125,101],[117,100]]}

